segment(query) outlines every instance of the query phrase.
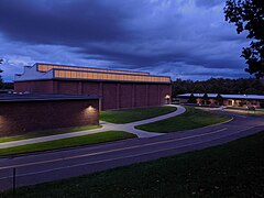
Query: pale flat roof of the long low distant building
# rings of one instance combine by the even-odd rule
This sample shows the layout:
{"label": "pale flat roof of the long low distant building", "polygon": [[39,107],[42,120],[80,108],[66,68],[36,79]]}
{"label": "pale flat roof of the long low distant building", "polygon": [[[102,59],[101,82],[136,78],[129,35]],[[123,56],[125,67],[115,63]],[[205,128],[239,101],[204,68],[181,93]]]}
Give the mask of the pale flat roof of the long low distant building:
{"label": "pale flat roof of the long low distant building", "polygon": [[[190,97],[191,94],[177,95],[179,98]],[[196,98],[202,98],[205,94],[194,94]],[[226,99],[248,99],[248,100],[264,100],[264,95],[222,95]],[[216,98],[218,94],[207,94],[208,98]]]}

